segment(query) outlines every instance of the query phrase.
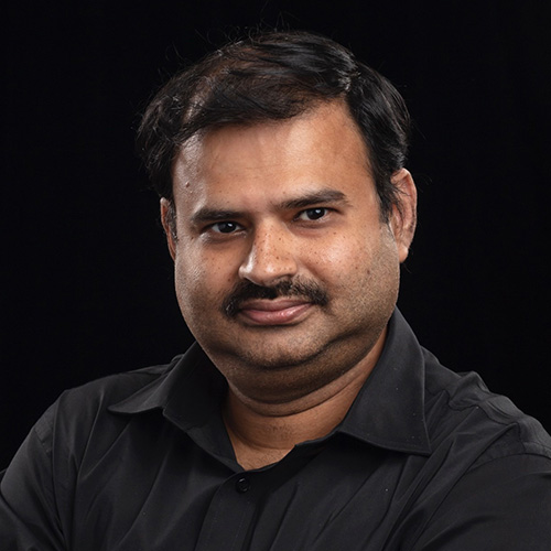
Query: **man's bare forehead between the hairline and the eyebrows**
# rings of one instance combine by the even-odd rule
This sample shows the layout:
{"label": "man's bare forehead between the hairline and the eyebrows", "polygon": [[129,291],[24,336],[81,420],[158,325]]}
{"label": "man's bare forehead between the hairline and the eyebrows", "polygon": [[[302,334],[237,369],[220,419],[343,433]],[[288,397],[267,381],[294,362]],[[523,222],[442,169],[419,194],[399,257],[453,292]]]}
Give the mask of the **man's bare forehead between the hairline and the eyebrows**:
{"label": "man's bare forehead between the hairline and the eyebrows", "polygon": [[[342,102],[322,104],[284,121],[228,126],[190,140],[173,166],[174,196],[238,194],[256,184],[281,195],[293,186],[372,187],[368,151]],[[366,186],[367,184],[367,186]]]}

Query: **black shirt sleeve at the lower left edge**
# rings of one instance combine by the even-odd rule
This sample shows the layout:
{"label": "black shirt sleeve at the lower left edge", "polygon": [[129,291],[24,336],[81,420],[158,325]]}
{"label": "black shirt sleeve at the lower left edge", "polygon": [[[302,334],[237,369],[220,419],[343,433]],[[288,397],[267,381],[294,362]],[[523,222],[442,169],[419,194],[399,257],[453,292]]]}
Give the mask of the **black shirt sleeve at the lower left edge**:
{"label": "black shirt sleeve at the lower left edge", "polygon": [[63,551],[52,475],[52,411],[31,430],[0,480],[2,550]]}

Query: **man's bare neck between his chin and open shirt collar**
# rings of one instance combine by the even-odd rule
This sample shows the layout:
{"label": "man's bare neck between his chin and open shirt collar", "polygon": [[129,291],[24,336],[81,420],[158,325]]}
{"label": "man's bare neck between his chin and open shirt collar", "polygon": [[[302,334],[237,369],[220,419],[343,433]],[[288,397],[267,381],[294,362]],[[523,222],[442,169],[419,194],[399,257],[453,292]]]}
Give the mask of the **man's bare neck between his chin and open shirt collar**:
{"label": "man's bare neck between his chin and open shirt collar", "polygon": [[282,403],[251,399],[230,383],[224,419],[237,462],[246,469],[260,468],[280,461],[294,445],[328,434],[375,367],[370,357],[314,392]]}

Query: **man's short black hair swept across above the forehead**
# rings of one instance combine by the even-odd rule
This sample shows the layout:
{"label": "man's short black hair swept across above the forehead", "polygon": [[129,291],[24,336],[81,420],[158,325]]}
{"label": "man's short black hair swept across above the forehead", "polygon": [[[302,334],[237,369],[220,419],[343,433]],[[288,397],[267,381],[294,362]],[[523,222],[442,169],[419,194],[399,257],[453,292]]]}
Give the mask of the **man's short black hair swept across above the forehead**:
{"label": "man's short black hair swept across above the forehead", "polygon": [[348,107],[367,147],[381,216],[400,206],[392,174],[403,168],[410,117],[398,90],[336,42],[269,32],[233,42],[170,79],[147,108],[138,151],[152,186],[172,205],[172,165],[192,137],[228,125],[285,120],[322,101]]}

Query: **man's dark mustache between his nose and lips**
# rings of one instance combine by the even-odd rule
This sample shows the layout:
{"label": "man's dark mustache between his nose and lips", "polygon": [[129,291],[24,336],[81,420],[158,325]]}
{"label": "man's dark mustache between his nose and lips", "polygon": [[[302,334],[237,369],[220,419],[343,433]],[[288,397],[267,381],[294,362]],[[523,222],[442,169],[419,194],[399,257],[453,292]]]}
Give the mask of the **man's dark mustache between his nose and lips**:
{"label": "man's dark mustache between his nose and lips", "polygon": [[279,296],[300,296],[318,306],[325,306],[329,302],[326,291],[314,281],[285,280],[270,287],[241,281],[235,285],[224,300],[222,311],[226,316],[235,317],[245,301],[251,299],[274,300]]}

